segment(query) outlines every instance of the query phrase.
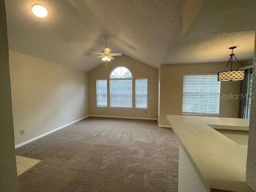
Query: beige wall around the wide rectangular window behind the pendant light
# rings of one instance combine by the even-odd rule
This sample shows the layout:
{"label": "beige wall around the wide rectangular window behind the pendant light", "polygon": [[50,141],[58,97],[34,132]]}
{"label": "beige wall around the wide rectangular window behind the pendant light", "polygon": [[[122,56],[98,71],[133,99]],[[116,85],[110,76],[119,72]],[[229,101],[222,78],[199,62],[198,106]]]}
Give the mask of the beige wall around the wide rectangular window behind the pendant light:
{"label": "beige wall around the wide rectangular window behind the pendant light", "polygon": [[[237,63],[233,63],[235,67]],[[160,125],[168,125],[166,115],[182,114],[183,74],[217,73],[223,71],[226,62],[207,64],[161,65],[160,67]],[[241,82],[221,82],[222,94],[240,94]],[[238,118],[240,99],[220,100],[220,116]]]}

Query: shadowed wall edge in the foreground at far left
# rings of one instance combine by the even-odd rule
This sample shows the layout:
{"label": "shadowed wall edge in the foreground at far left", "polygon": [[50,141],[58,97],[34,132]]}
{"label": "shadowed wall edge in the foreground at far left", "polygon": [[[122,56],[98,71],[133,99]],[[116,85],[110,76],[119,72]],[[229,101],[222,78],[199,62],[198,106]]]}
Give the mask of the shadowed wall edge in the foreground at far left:
{"label": "shadowed wall edge in the foreground at far left", "polygon": [[17,192],[18,180],[12,124],[12,98],[4,1],[0,1],[0,191]]}

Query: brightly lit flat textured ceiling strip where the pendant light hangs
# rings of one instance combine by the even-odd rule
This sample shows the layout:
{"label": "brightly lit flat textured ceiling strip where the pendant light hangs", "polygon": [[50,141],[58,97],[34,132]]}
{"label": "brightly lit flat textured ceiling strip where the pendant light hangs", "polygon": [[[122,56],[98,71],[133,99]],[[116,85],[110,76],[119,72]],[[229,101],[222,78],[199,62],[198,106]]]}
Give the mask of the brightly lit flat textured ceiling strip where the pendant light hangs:
{"label": "brightly lit flat textured ceiling strip where the pendant light hangs", "polygon": [[228,62],[231,46],[238,60],[248,60],[254,56],[254,31],[207,34],[194,38],[182,37],[179,28],[175,41],[171,42],[162,64],[188,64],[205,62]]}

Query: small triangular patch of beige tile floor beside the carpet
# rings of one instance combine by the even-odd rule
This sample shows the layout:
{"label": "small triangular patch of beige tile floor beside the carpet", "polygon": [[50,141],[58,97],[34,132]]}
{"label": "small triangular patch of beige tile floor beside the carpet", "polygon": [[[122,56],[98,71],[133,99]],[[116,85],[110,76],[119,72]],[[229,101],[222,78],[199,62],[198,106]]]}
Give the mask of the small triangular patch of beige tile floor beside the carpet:
{"label": "small triangular patch of beige tile floor beside the carpet", "polygon": [[38,164],[40,161],[42,160],[16,155],[16,166],[18,176],[24,173],[26,170]]}

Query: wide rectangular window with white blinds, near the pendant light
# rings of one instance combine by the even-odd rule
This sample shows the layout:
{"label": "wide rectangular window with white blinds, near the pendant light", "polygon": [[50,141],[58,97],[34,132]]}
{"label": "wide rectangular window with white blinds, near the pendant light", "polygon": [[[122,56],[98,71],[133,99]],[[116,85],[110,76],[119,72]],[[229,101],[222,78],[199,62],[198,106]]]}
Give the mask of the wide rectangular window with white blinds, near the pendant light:
{"label": "wide rectangular window with white blinds, near the pendant light", "polygon": [[219,114],[217,74],[184,74],[182,113]]}

